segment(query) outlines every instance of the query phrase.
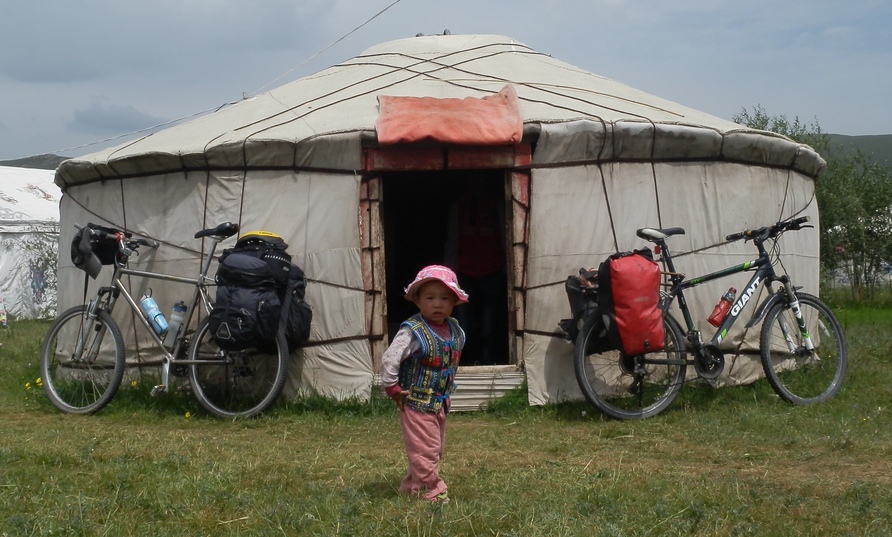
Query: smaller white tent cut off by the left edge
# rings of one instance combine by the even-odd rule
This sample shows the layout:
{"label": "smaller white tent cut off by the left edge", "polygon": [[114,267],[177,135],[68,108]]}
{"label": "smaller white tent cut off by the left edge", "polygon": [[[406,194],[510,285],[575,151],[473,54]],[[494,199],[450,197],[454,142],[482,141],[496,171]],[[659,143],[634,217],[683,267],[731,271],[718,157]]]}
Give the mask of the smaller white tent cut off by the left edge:
{"label": "smaller white tent cut off by the left edge", "polygon": [[55,172],[0,166],[0,297],[15,318],[56,311],[59,199]]}

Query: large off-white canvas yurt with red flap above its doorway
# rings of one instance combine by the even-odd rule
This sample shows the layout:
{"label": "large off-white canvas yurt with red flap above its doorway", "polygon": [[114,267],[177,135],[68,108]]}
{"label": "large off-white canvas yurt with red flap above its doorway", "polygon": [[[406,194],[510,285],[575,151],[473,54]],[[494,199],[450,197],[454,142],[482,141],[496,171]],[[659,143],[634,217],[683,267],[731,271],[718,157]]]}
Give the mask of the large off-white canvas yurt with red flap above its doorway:
{"label": "large off-white canvas yurt with red flap above its doorway", "polygon": [[[503,96],[496,119],[511,124],[518,114],[514,131],[497,126],[490,137],[486,118],[458,117],[459,100],[472,109],[475,98]],[[423,99],[384,117],[401,97]],[[451,123],[458,128],[440,129]],[[440,260],[458,180],[483,175],[505,192],[509,315],[497,365],[462,370],[482,392],[505,375],[525,376],[530,402],[541,404],[581,397],[572,348],[557,333],[569,274],[643,246],[635,229],[644,226],[688,230],[672,245],[689,274],[750,260],[748,245],[725,244],[725,235],[794,214],[817,222],[814,180],[823,166],[807,146],[509,37],[449,35],[384,43],[187,124],[66,161],[56,183],[66,193],[63,245],[75,222],[126,227],[162,243],[137,260],[148,269],[194,274],[206,246],[194,231],[223,221],[282,235],[315,308],[288,389],[345,397],[369,393],[388,338],[411,313],[402,287]],[[786,268],[817,290],[817,233],[798,234],[786,252]],[[83,274],[66,255],[59,278],[60,308],[79,302]],[[186,293],[134,285],[151,285],[165,310]],[[704,285],[691,306],[705,319],[724,290]],[[129,316],[119,320],[128,359],[153,358]],[[728,341],[726,381],[752,378],[748,341]]]}

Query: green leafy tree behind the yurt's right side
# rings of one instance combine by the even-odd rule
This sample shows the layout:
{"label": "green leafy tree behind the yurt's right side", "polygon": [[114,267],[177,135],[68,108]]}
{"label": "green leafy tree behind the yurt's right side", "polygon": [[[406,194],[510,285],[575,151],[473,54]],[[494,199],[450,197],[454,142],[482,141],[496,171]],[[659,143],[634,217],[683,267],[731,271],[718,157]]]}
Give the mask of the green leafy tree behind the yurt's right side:
{"label": "green leafy tree behind the yurt's right side", "polygon": [[821,211],[821,273],[825,284],[845,274],[855,300],[871,298],[892,261],[892,179],[889,169],[861,151],[834,146],[817,120],[769,116],[757,106],[732,120],[750,128],[782,134],[817,151],[827,161],[815,195]]}

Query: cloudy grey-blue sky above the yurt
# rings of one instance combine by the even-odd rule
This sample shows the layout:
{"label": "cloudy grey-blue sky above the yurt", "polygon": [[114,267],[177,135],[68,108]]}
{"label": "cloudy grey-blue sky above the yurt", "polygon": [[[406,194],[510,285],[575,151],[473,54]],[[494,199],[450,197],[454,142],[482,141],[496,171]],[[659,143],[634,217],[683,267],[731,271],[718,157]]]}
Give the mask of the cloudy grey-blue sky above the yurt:
{"label": "cloudy grey-blue sky above the yurt", "polygon": [[0,160],[75,157],[416,34],[498,34],[732,120],[892,134],[888,0],[0,0]]}

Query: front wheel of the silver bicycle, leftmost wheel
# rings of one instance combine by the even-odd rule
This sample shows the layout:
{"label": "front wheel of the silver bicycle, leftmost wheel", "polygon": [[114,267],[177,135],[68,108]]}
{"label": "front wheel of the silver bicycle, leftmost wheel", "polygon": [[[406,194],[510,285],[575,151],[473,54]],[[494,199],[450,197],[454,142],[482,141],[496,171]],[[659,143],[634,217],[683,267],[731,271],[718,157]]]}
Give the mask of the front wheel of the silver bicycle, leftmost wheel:
{"label": "front wheel of the silver bicycle, leftmost wheel", "polygon": [[[40,375],[50,402],[69,414],[92,414],[111,401],[124,378],[124,340],[100,310],[75,306],[50,326],[40,349]],[[111,338],[105,335],[110,334]]]}

